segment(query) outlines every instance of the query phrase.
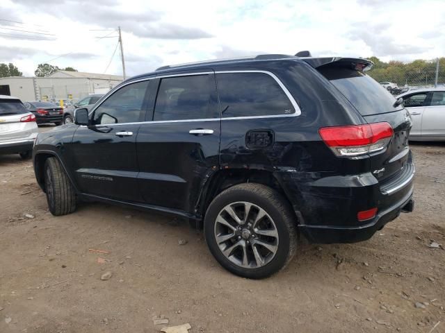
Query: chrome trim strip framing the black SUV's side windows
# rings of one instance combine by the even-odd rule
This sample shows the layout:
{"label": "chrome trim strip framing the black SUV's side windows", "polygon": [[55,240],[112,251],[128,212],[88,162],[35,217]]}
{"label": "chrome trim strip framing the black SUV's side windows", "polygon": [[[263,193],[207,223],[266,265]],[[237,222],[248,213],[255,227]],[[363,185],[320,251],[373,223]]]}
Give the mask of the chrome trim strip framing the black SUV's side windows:
{"label": "chrome trim strip framing the black SUV's side windows", "polygon": [[[131,83],[138,83],[143,82],[147,80],[154,80],[155,78],[172,78],[176,76],[194,76],[194,75],[204,75],[204,74],[225,74],[225,73],[262,73],[267,74],[268,76],[271,76],[275,82],[277,82],[278,85],[282,88],[284,94],[286,94],[289,101],[291,101],[291,104],[294,108],[294,112],[291,114],[270,114],[267,116],[250,116],[250,117],[221,117],[221,118],[204,118],[204,119],[181,119],[181,120],[157,120],[157,121],[138,121],[138,122],[132,122],[132,123],[101,123],[100,126],[122,126],[122,125],[135,125],[135,124],[142,124],[142,123],[188,123],[192,121],[220,121],[220,120],[238,120],[238,119],[268,119],[268,118],[284,118],[284,117],[297,117],[300,116],[301,110],[298,106],[298,103],[293,98],[291,92],[286,88],[286,86],[281,82],[275,74],[271,73],[270,71],[261,71],[261,70],[239,70],[239,71],[201,71],[198,73],[184,73],[184,74],[169,74],[169,75],[161,75],[161,76],[152,76],[150,78],[141,78],[140,80],[133,80],[128,83],[125,83],[118,87],[118,89],[113,90],[113,93],[109,94],[106,99],[103,101],[99,101],[100,103],[95,105],[95,107],[88,113],[88,116],[92,114],[97,108],[99,108],[104,101],[106,101],[110,96],[112,96],[115,92],[117,92],[122,87],[125,87],[127,85],[130,85]],[[83,126],[86,127],[86,126]]]}

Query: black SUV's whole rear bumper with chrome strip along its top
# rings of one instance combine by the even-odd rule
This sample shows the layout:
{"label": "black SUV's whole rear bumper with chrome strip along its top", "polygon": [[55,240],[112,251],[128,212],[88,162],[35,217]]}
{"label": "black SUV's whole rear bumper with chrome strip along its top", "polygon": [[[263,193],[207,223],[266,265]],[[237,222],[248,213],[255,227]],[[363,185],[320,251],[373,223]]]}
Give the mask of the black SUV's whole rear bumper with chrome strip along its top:
{"label": "black SUV's whole rear bumper with chrome strip along its top", "polygon": [[[379,182],[372,173],[310,179],[296,172],[279,173],[286,196],[298,217],[298,227],[314,243],[364,241],[401,212],[412,211],[412,159],[398,176]],[[377,208],[373,219],[359,221],[357,213]]]}

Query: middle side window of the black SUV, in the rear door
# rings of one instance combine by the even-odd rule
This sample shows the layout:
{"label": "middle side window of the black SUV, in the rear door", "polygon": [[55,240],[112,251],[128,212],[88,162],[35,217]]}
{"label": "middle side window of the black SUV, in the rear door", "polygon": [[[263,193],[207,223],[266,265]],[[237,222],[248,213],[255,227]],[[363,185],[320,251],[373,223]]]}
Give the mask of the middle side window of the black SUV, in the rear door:
{"label": "middle side window of the black SUV, in the rear door", "polygon": [[213,74],[161,78],[154,121],[218,118]]}

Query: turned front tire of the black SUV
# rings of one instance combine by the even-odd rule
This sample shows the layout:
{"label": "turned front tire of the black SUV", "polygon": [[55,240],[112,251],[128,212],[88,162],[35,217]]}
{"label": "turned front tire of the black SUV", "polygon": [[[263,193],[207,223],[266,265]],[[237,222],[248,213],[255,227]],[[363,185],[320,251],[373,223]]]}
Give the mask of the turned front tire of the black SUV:
{"label": "turned front tire of the black SUV", "polygon": [[76,193],[56,157],[49,157],[44,164],[44,184],[51,214],[59,216],[76,210]]}

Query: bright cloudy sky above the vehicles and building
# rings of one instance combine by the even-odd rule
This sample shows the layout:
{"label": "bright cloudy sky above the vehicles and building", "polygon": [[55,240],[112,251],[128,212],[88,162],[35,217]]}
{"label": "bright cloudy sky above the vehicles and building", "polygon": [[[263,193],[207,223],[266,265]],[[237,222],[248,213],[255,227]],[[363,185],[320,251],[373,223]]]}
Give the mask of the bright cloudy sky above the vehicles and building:
{"label": "bright cloudy sky above the vehicles and building", "polygon": [[[1,0],[0,62],[127,76],[163,65],[264,53],[445,56],[444,0]],[[114,56],[113,56],[114,53]]]}

